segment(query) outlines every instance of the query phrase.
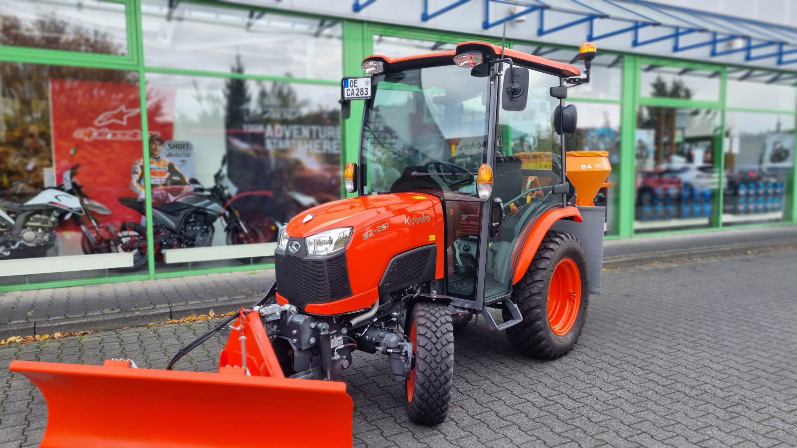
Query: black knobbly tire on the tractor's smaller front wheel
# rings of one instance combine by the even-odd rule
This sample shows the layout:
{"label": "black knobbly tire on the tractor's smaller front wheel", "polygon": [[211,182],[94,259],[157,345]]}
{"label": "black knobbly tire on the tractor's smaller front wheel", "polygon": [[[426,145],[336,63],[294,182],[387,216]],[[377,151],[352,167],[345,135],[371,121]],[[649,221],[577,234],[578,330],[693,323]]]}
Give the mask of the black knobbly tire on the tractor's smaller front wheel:
{"label": "black knobbly tire on the tractor's smaller front wheel", "polygon": [[418,302],[413,319],[417,325],[415,379],[412,400],[406,402],[406,415],[411,422],[437,425],[448,415],[453,383],[451,312],[445,304]]}

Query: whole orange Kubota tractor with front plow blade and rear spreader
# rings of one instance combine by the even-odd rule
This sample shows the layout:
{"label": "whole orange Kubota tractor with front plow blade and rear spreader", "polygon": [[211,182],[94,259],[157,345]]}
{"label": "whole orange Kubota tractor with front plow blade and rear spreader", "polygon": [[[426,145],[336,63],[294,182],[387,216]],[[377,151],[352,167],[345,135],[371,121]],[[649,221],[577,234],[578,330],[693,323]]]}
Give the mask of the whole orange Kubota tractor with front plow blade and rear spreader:
{"label": "whole orange Kubota tractor with front plow blade and rear spreader", "polygon": [[[14,361],[49,406],[42,446],[349,445],[352,403],[335,380],[356,350],[387,357],[409,419],[434,425],[449,410],[454,331],[473,316],[528,356],[563,356],[600,289],[605,210],[592,198],[611,168],[564,144],[567,89],[589,81],[594,56],[582,46],[586,77],[484,42],[368,57],[367,76],[341,85],[344,117],[364,100],[352,197],[283,227],[263,300],[165,371]],[[218,373],[170,370],[230,323]],[[264,426],[227,434],[253,415]],[[313,430],[266,430],[276,421]]]}

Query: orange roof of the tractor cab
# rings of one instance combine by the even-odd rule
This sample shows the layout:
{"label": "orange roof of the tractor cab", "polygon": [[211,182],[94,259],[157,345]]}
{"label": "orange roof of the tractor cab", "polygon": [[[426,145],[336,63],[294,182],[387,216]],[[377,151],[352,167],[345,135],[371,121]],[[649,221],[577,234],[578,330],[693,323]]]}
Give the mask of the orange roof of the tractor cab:
{"label": "orange roof of the tractor cab", "polygon": [[[389,57],[381,54],[375,54],[365,58],[365,61],[384,61],[387,64],[387,69],[404,69],[416,65],[434,65],[434,64],[450,64],[451,58],[459,53],[464,53],[469,50],[481,50],[485,56],[501,55],[501,47],[498,45],[489,44],[480,41],[462,42],[457,45],[457,49],[448,51],[439,51],[436,53],[425,53],[407,57]],[[550,73],[557,77],[577,77],[581,74],[579,69],[572,65],[563,64],[561,62],[552,61],[544,57],[534,56],[532,54],[517,51],[516,49],[504,49],[504,56],[511,57],[512,62],[516,65],[526,67],[528,69],[539,70],[540,72]]]}

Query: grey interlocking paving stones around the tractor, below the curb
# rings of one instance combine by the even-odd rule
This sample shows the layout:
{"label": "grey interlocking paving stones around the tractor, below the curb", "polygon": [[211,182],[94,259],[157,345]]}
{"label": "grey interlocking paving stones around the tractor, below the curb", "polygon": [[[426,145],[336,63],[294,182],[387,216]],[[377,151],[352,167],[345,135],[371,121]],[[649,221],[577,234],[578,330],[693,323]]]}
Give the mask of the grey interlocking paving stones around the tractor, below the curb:
{"label": "grey interlocking paving stones around the tractor, below the curb", "polygon": [[[383,356],[358,352],[344,372],[355,446],[797,446],[795,265],[784,250],[607,270],[579,344],[556,361],[471,323],[455,339],[449,419],[434,427],[407,421]],[[209,325],[0,346],[0,447],[35,446],[46,425],[44,399],[10,360],[163,368]],[[179,367],[213,371],[223,342]]]}

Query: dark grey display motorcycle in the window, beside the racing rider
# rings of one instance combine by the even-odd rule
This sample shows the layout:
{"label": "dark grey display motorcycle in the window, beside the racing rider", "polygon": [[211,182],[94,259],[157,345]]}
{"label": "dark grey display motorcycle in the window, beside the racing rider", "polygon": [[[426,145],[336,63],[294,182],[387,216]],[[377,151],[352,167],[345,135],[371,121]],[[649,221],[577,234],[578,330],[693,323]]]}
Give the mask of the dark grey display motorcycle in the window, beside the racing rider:
{"label": "dark grey display motorcycle in the window, beside the racing rider", "polygon": [[[264,234],[260,226],[241,216],[236,208],[236,197],[230,195],[230,190],[223,183],[226,176],[222,171],[226,161],[225,155],[222,166],[213,176],[213,187],[202,187],[197,179],[189,179],[186,185],[181,176],[175,175],[167,179],[164,187],[153,191],[152,231],[155,237],[155,260],[163,261],[163,250],[210,246],[215,234],[214,224],[218,218],[222,218],[227,245],[276,241],[275,232]],[[146,207],[142,199],[119,198],[119,202],[145,215]],[[270,226],[275,226],[276,229],[277,224]],[[143,224],[123,222],[117,236],[124,240],[122,247],[125,251],[135,252],[134,265],[132,268],[124,268],[125,270],[138,270],[147,265],[147,230]],[[238,261],[257,262],[261,258],[239,258]]]}

